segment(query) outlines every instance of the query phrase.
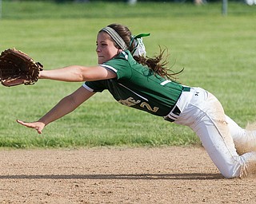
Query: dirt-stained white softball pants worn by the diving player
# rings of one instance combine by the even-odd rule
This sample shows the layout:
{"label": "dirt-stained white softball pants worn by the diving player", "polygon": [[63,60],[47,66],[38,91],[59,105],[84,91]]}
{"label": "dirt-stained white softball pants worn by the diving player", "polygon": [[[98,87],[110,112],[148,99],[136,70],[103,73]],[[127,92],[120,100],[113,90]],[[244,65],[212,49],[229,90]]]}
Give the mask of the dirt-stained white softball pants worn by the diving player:
{"label": "dirt-stained white softball pants worn by the diving player", "polygon": [[186,125],[198,135],[224,177],[245,177],[255,173],[256,139],[251,149],[238,155],[235,146],[245,145],[246,131],[225,115],[215,96],[202,88],[191,88],[190,92],[182,92],[177,106],[181,114],[174,123]]}

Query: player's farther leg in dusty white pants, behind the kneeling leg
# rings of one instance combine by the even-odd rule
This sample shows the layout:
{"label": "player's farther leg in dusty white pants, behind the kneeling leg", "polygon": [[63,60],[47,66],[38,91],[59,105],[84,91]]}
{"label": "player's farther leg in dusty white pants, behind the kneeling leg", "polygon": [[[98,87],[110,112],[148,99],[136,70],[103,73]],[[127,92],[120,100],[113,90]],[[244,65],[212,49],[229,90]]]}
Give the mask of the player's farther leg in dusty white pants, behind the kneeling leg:
{"label": "player's farther leg in dusty white pants, behind the kneeling leg", "polygon": [[230,128],[230,135],[234,139],[238,155],[256,151],[256,130],[250,131],[241,128],[229,116],[226,116],[226,122]]}

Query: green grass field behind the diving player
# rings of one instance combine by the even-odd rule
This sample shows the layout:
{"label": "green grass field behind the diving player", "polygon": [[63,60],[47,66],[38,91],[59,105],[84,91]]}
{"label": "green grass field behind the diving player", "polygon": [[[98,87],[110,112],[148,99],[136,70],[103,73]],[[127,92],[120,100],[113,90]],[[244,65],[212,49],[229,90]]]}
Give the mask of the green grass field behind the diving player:
{"label": "green grass field behind the diving player", "polygon": [[[256,6],[230,2],[202,6],[179,3],[56,4],[2,2],[0,49],[21,49],[45,69],[94,65],[99,29],[112,22],[145,37],[147,53],[169,49],[174,71],[185,68],[183,84],[213,92],[226,114],[242,127],[256,120]],[[39,80],[33,86],[0,88],[0,147],[161,146],[199,143],[189,128],[123,107],[108,92],[50,124],[42,135],[15,120],[38,120],[81,83]]]}

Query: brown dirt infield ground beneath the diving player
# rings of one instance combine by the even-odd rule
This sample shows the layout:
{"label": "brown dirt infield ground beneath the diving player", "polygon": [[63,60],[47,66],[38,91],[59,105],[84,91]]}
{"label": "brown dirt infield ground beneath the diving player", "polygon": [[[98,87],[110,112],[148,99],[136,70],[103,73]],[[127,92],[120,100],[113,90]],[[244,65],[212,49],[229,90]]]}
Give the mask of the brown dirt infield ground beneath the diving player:
{"label": "brown dirt infield ground beneath the diving player", "polygon": [[202,147],[0,151],[0,203],[256,203]]}

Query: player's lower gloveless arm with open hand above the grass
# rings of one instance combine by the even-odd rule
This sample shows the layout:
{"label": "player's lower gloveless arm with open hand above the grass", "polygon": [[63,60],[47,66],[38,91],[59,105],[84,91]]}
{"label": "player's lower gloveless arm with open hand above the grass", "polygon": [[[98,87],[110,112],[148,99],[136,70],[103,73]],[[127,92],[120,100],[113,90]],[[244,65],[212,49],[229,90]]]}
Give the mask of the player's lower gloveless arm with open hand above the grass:
{"label": "player's lower gloveless arm with open hand above the grass", "polygon": [[54,120],[58,120],[70,112],[73,112],[75,108],[78,108],[80,104],[93,95],[94,92],[89,92],[86,90],[86,88],[80,87],[69,96],[66,96],[60,100],[58,104],[56,104],[54,108],[50,110],[50,112],[47,112],[46,115],[42,116],[42,118],[38,121],[28,123],[22,120],[17,120],[17,122],[26,126],[27,128],[34,128],[39,134],[41,134],[42,129],[45,128],[47,124],[50,124]]}

